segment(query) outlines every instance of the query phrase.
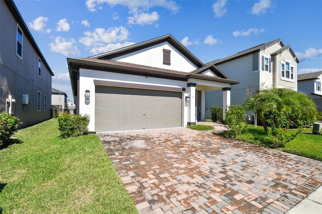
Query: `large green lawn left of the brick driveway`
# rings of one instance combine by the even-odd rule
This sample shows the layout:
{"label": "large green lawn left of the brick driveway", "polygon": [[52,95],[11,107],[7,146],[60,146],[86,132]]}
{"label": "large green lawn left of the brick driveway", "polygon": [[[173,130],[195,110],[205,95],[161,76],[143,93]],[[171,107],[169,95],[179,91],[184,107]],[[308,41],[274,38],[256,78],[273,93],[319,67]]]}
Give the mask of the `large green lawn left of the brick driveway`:
{"label": "large green lawn left of the brick driveway", "polygon": [[137,213],[96,135],[60,139],[56,119],[0,149],[0,213]]}

